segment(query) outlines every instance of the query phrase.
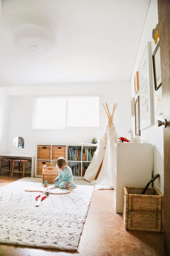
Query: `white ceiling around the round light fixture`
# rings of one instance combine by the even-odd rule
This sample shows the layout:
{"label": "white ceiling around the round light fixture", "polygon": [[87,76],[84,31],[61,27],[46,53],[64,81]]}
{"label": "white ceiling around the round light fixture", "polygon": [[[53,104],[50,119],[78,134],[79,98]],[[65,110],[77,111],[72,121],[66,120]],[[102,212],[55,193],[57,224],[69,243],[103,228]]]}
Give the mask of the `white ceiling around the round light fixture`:
{"label": "white ceiling around the round light fixture", "polygon": [[[130,81],[150,0],[4,0],[0,86]],[[16,48],[19,25],[48,28],[57,47],[30,58]]]}

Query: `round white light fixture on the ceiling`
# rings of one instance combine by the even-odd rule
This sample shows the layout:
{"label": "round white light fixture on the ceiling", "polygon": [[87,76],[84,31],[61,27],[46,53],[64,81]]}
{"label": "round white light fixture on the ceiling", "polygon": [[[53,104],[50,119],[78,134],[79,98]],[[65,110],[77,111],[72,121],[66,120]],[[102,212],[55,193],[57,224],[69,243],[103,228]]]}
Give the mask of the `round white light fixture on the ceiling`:
{"label": "round white light fixture on the ceiling", "polygon": [[55,35],[48,29],[36,24],[20,25],[13,31],[14,45],[28,57],[48,57],[57,46]]}

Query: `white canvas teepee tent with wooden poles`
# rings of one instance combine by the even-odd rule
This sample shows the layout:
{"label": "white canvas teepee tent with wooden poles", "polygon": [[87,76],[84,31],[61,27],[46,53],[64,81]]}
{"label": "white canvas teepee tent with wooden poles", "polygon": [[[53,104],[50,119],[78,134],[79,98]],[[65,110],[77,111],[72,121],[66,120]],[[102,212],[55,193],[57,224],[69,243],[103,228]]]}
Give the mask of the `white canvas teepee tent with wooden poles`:
{"label": "white canvas teepee tent with wooden poles", "polygon": [[[107,103],[105,103],[106,108],[104,104],[102,105],[108,118],[108,125],[99,140],[93,159],[84,174],[84,179],[114,189],[115,143],[119,140],[113,124],[113,114],[117,103],[114,104],[112,115]],[[96,177],[97,179],[95,180]]]}

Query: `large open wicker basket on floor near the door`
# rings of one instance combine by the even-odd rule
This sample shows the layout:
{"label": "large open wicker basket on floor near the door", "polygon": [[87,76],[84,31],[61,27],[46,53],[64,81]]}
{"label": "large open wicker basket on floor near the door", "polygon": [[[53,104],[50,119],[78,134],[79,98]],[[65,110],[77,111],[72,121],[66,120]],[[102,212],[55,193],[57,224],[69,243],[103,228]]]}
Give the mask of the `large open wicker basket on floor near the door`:
{"label": "large open wicker basket on floor near the door", "polygon": [[124,187],[123,219],[129,230],[163,232],[163,195],[156,188]]}

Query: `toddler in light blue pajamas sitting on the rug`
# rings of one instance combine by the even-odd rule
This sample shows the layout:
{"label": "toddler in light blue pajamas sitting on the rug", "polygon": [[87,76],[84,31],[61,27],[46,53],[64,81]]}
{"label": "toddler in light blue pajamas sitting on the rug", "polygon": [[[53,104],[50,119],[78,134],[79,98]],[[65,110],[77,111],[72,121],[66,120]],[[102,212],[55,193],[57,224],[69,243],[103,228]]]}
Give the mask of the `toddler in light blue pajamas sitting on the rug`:
{"label": "toddler in light blue pajamas sitting on the rug", "polygon": [[60,173],[58,177],[53,180],[54,186],[59,187],[60,189],[77,187],[73,183],[73,174],[71,168],[67,166],[67,162],[64,157],[59,157],[57,159],[56,166],[58,166],[60,169]]}

